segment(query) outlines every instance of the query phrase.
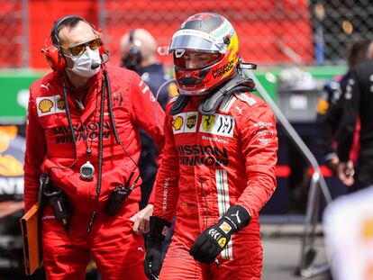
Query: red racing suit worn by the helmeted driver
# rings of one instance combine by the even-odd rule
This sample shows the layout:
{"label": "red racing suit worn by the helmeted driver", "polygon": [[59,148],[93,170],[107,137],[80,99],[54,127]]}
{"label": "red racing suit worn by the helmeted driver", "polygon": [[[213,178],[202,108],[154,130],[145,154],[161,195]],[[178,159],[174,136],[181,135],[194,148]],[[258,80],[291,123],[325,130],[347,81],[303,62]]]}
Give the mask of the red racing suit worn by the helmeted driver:
{"label": "red racing suit worn by the helmeted driver", "polygon": [[[156,183],[154,216],[176,228],[159,279],[260,279],[262,248],[259,210],[276,187],[275,117],[259,97],[233,94],[213,115],[198,113],[201,96],[182,113],[165,119],[166,145]],[[197,236],[233,204],[251,215],[248,227],[232,235],[215,263],[189,255]]]}

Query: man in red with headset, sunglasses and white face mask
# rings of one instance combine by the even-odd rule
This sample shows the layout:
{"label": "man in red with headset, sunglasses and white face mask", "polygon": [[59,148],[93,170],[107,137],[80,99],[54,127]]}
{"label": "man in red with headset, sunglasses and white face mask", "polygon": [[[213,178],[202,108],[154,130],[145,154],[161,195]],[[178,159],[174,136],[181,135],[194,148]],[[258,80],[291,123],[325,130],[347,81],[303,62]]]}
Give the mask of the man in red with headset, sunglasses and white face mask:
{"label": "man in red with headset, sunglasses and white face mask", "polygon": [[103,279],[146,279],[152,205],[139,212],[139,128],[161,151],[164,112],[135,72],[106,64],[84,18],[59,19],[50,39],[54,71],[30,88],[24,158],[25,211],[42,197],[47,278],[85,279],[93,257]]}

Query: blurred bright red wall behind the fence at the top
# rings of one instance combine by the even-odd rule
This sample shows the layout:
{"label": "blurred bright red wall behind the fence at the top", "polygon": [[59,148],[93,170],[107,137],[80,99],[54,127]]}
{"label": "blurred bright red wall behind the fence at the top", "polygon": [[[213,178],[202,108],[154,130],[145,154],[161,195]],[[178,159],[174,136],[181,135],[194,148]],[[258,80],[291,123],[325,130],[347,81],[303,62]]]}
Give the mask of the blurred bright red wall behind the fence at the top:
{"label": "blurred bright red wall behind the fence at the top", "polygon": [[[102,27],[112,63],[119,65],[119,41],[133,28],[148,29],[160,45],[188,15],[226,16],[239,34],[241,56],[260,65],[313,64],[311,14],[306,0],[0,0],[0,67],[48,68],[41,49],[55,20],[68,14]],[[14,36],[18,36],[14,41]],[[24,38],[27,38],[26,43]],[[160,58],[170,66],[169,57]]]}

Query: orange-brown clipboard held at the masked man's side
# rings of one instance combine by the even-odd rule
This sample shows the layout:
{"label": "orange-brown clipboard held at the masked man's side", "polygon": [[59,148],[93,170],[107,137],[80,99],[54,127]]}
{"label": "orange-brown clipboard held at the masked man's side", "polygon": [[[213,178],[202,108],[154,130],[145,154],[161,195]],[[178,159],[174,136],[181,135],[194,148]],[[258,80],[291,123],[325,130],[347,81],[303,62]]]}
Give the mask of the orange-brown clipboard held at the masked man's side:
{"label": "orange-brown clipboard held at the masked man's side", "polygon": [[32,275],[42,266],[40,211],[39,203],[35,203],[20,219],[26,275]]}

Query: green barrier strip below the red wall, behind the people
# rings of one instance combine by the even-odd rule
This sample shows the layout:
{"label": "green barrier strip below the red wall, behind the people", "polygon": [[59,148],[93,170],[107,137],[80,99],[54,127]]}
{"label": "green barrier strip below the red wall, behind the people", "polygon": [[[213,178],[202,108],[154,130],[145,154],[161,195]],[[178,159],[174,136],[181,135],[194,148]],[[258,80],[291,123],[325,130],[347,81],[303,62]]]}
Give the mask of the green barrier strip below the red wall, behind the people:
{"label": "green barrier strip below the red wall, behind the people", "polygon": [[[268,91],[271,98],[277,101],[277,87],[280,73],[284,68],[259,68],[254,70],[259,82]],[[345,73],[345,67],[302,68],[316,79],[331,79]],[[45,72],[24,70],[0,72],[0,124],[22,124],[26,120],[29,87]]]}

